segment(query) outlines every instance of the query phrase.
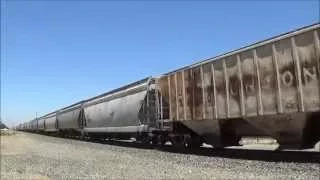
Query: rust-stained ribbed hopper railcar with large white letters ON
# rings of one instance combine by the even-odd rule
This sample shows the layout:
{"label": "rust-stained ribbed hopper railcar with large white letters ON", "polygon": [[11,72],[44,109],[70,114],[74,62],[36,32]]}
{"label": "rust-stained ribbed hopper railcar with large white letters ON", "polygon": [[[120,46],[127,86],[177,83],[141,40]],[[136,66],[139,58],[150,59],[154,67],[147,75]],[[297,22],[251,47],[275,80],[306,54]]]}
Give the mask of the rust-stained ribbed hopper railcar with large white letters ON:
{"label": "rust-stained ribbed hopper railcar with large white letters ON", "polygon": [[214,146],[271,136],[297,147],[319,141],[320,24],[159,78],[167,117]]}

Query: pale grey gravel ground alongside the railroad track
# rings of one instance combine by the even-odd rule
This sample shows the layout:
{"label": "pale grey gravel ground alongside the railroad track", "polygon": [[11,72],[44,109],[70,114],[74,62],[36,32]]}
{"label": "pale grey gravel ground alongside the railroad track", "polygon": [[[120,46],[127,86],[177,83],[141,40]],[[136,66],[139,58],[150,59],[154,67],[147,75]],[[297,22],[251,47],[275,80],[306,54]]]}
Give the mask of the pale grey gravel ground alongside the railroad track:
{"label": "pale grey gravel ground alongside the railroad track", "polygon": [[199,156],[56,138],[1,136],[1,179],[316,179],[317,163]]}

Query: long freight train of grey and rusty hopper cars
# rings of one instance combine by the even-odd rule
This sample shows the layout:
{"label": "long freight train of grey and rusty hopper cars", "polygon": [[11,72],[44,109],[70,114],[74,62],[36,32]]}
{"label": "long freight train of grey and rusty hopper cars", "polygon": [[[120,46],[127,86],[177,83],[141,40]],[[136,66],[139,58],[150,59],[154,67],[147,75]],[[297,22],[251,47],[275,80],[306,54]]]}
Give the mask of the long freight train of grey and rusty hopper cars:
{"label": "long freight train of grey and rusty hopper cars", "polygon": [[16,128],[80,138],[136,138],[178,147],[280,147],[320,141],[320,24],[148,77]]}

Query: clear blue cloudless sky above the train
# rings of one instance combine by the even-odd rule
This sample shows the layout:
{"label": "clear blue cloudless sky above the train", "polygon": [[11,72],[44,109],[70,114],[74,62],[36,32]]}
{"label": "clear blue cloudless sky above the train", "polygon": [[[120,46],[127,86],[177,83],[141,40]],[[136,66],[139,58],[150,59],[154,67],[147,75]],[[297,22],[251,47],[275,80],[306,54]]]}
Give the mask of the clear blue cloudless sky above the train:
{"label": "clear blue cloudless sky above the train", "polygon": [[30,120],[319,22],[319,1],[1,1],[1,118]]}

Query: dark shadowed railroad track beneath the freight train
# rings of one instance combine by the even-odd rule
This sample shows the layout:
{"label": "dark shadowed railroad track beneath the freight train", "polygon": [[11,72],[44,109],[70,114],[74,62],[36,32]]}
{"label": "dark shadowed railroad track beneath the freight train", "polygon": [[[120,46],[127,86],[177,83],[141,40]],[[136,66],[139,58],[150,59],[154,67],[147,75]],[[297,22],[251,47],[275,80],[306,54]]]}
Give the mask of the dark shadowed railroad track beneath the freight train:
{"label": "dark shadowed railroad track beneath the freight train", "polygon": [[133,140],[90,139],[80,140],[79,137],[65,137],[79,141],[122,146],[127,148],[155,149],[159,151],[179,154],[192,154],[198,156],[223,157],[231,159],[258,160],[267,162],[295,162],[295,163],[319,163],[320,152],[305,150],[254,150],[239,148],[215,149],[210,147],[199,148],[175,148],[170,145],[154,145],[140,143]]}

